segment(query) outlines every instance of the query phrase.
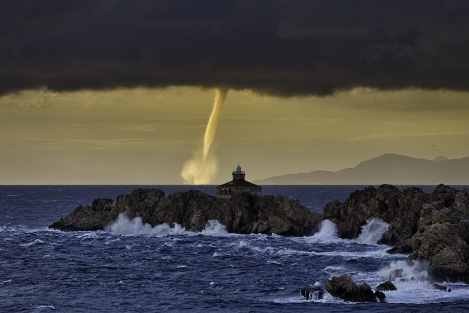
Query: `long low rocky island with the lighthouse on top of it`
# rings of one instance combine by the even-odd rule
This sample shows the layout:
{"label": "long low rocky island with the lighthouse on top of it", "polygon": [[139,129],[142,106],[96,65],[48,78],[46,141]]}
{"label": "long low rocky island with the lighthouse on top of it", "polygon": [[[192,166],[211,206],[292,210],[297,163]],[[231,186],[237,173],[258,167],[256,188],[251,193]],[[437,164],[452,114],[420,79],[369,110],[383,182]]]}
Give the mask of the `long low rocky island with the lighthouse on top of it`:
{"label": "long low rocky island with the lighthouse on top of it", "polygon": [[130,195],[118,196],[116,201],[96,199],[89,206],[80,205],[49,227],[64,231],[103,230],[120,213],[130,219],[140,217],[152,226],[180,224],[200,231],[209,220],[218,220],[228,232],[284,236],[312,234],[322,221],[322,215],[285,196],[242,194],[227,199],[191,190],[166,197],[158,189],[137,189]]}

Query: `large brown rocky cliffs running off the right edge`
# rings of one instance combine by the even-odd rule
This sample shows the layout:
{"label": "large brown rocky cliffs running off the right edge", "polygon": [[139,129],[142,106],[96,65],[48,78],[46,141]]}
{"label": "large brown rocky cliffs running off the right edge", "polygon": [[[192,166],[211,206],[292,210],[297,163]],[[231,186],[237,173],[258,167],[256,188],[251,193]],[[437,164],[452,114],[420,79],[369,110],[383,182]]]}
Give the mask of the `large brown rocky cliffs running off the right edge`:
{"label": "large brown rocky cliffs running off the right edge", "polygon": [[408,187],[370,186],[331,201],[324,218],[337,224],[341,238],[355,238],[373,217],[390,224],[379,244],[396,245],[389,253],[409,254],[408,260],[427,260],[436,280],[469,283],[469,191],[440,184],[432,194]]}

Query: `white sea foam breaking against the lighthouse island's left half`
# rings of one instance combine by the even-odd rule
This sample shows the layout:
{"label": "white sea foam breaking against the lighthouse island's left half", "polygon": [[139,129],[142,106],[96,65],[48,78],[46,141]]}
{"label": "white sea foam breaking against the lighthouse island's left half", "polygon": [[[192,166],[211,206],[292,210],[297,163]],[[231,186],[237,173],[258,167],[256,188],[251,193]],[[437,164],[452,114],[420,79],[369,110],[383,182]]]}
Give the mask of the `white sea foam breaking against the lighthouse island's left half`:
{"label": "white sea foam breaking against the lighthouse island's left half", "polygon": [[106,226],[106,231],[120,235],[205,235],[205,236],[232,236],[226,231],[226,227],[217,220],[209,220],[205,229],[201,232],[193,232],[185,227],[174,224],[171,227],[168,224],[159,224],[152,227],[148,223],[143,223],[140,217],[130,220],[124,213],[119,214],[117,220]]}

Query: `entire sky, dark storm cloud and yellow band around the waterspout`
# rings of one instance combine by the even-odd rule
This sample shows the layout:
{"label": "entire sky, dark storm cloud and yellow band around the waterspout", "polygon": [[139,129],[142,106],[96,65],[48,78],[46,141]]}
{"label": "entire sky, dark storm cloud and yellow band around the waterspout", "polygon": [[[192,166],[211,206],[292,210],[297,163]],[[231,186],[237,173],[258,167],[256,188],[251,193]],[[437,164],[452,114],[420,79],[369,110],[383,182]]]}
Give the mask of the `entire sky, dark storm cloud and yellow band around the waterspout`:
{"label": "entire sky, dark storm cloud and yellow band around the waterspout", "polygon": [[150,2],[0,3],[0,184],[469,156],[466,1]]}

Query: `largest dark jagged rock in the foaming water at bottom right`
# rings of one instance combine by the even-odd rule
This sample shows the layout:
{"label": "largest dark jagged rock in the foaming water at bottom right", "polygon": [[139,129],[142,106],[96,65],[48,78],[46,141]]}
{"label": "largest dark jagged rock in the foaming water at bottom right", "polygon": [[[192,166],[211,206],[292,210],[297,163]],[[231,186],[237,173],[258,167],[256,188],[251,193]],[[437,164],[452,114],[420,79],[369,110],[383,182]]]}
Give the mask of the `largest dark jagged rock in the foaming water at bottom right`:
{"label": "largest dark jagged rock in the foaming water at bottom right", "polygon": [[368,284],[358,287],[348,275],[326,280],[326,290],[335,297],[352,302],[376,302],[376,296]]}

